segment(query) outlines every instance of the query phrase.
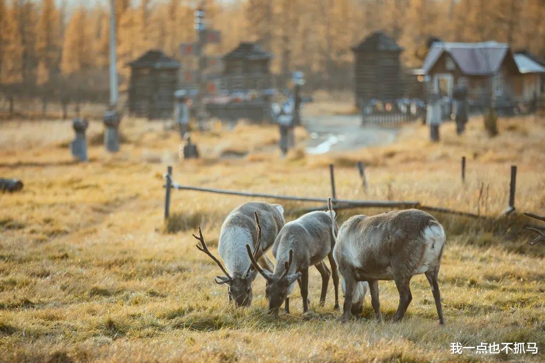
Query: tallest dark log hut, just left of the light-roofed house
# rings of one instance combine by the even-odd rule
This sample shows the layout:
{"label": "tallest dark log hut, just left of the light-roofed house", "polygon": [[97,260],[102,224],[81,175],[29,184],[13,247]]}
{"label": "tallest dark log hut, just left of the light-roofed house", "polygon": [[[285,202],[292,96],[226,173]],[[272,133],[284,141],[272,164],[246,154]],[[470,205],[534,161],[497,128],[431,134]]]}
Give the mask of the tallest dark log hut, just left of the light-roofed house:
{"label": "tallest dark log hut, just left of the light-roofed house", "polygon": [[399,55],[403,48],[384,32],[374,32],[352,48],[356,103],[394,101],[404,94]]}

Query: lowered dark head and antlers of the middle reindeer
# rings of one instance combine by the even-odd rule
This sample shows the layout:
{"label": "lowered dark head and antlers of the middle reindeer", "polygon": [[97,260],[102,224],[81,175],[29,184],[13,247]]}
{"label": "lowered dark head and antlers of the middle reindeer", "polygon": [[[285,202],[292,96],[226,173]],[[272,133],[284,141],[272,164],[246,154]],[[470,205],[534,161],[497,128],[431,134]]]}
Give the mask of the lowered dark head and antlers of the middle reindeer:
{"label": "lowered dark head and antlers of the middle reindeer", "polygon": [[293,262],[293,250],[289,250],[289,260],[284,262],[284,271],[280,276],[264,271],[258,266],[255,258],[252,256],[250,245],[246,245],[246,251],[248,256],[250,256],[250,261],[252,261],[253,267],[263,276],[265,280],[267,280],[266,294],[269,298],[269,312],[277,314],[278,309],[280,309],[280,306],[284,300],[286,300],[288,295],[292,292],[292,285],[301,277],[300,272],[288,274],[289,268],[292,266]]}

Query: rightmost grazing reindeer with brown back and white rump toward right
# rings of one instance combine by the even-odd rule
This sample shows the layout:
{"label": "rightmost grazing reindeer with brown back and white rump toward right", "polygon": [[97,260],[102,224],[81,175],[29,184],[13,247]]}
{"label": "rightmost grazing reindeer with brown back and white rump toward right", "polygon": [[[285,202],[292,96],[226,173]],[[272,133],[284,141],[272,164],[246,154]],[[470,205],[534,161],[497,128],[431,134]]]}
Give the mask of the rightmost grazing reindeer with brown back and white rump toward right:
{"label": "rightmost grazing reindeer with brown back and white rump toward right", "polygon": [[[333,220],[331,199],[328,206]],[[372,217],[353,216],[343,223],[336,239],[333,255],[346,286],[343,320],[349,318],[358,281],[369,283],[371,305],[378,320],[382,320],[378,280],[396,282],[399,305],[393,319],[401,320],[413,299],[410,279],[423,273],[432,287],[439,323],[444,324],[437,274],[445,231],[430,214],[411,209]]]}

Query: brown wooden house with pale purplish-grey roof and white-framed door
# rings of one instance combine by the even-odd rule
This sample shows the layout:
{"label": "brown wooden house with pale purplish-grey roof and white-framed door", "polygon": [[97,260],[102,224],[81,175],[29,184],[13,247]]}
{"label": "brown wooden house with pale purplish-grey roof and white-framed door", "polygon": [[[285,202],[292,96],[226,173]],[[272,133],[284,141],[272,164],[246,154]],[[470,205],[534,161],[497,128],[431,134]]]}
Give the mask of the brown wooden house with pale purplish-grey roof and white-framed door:
{"label": "brown wooden house with pale purplish-grey roof and white-framed door", "polygon": [[516,100],[514,79],[520,72],[505,43],[434,42],[422,70],[429,78],[428,93],[450,99],[455,87],[464,86],[473,106],[511,107]]}

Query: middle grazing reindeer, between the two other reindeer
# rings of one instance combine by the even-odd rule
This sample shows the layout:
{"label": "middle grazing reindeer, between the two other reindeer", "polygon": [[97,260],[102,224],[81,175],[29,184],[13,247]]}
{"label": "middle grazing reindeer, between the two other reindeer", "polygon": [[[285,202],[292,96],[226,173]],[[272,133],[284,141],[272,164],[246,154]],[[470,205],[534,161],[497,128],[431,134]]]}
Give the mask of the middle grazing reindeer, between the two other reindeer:
{"label": "middle grazing reindeer, between the two other reindeer", "polygon": [[324,259],[329,257],[333,284],[335,287],[335,309],[338,309],[338,274],[333,247],[335,239],[335,223],[326,212],[311,212],[286,223],[272,246],[272,254],[276,258],[274,273],[259,268],[252,256],[250,245],[246,245],[247,254],[253,267],[267,280],[267,294],[269,298],[269,312],[278,313],[278,309],[285,301],[284,310],[289,313],[289,295],[293,291],[295,280],[298,280],[303,300],[303,312],[308,310],[308,267],[314,265],[322,275],[322,293],[320,304],[325,303],[328,291],[330,272],[325,266]]}

